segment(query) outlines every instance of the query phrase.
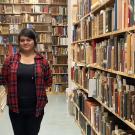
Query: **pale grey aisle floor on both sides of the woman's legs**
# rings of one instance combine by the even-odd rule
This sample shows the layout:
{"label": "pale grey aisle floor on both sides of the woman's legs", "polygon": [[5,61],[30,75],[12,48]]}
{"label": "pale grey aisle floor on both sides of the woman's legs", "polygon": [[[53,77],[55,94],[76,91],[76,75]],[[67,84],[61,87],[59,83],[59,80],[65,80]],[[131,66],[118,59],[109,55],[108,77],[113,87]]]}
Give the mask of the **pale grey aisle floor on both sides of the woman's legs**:
{"label": "pale grey aisle floor on both sides of the woman's legs", "polygon": [[[81,135],[74,118],[68,114],[65,95],[48,95],[48,100],[39,135]],[[0,135],[13,135],[7,108],[0,116]]]}

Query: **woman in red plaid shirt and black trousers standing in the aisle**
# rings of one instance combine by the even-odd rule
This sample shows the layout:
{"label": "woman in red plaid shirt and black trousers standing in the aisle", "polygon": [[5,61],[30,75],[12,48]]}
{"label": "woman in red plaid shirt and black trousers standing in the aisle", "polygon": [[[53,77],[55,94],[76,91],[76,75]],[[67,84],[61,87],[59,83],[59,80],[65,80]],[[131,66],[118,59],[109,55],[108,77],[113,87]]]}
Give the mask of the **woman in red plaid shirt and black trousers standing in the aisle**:
{"label": "woman in red plaid shirt and black trousers standing in the aisle", "polygon": [[47,60],[35,51],[36,35],[24,28],[18,35],[19,52],[6,58],[0,84],[7,89],[7,105],[14,135],[38,135],[52,84]]}

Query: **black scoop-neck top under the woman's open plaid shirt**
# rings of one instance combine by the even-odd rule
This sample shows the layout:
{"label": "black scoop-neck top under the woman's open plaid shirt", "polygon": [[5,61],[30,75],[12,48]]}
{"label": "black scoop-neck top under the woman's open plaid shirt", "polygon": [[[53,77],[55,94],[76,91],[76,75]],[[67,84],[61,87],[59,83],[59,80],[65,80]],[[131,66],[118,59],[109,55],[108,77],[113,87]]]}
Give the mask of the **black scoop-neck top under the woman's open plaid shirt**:
{"label": "black scoop-neck top under the woman's open plaid shirt", "polygon": [[36,85],[35,64],[19,63],[17,71],[17,92],[20,112],[35,112]]}

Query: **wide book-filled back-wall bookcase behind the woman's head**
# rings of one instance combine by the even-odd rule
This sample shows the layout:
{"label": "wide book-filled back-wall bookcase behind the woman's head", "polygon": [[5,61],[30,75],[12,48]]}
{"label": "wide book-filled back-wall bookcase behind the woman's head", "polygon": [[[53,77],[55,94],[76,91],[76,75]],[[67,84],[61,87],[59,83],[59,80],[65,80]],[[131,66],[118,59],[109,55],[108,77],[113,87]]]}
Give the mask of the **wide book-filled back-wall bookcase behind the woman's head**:
{"label": "wide book-filled back-wall bookcase behind the woman's head", "polygon": [[0,1],[1,43],[4,43],[7,49],[9,48],[10,51],[7,50],[8,55],[16,53],[15,48],[17,46],[13,45],[17,45],[19,30],[23,27],[33,28],[38,36],[37,50],[45,55],[51,63],[50,2],[50,0]]}

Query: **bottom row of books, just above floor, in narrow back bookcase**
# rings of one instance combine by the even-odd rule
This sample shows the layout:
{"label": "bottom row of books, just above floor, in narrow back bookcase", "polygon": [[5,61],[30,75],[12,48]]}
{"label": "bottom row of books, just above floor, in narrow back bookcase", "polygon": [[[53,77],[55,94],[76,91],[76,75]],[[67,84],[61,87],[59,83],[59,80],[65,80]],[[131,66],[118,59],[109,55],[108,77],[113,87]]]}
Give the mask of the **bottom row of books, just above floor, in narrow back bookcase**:
{"label": "bottom row of books, just above floor, in narrow back bookcase", "polygon": [[61,85],[61,84],[53,84],[52,85],[52,90],[53,92],[64,92],[66,90],[66,85]]}

